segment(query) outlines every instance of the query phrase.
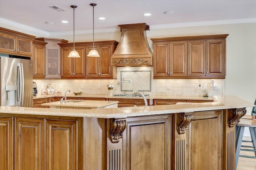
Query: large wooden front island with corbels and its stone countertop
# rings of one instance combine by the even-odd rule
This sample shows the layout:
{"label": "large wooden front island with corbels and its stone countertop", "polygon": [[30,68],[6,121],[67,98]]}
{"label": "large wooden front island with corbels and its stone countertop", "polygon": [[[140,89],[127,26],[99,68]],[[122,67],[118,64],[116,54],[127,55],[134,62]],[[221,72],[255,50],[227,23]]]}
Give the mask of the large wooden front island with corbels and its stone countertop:
{"label": "large wooden front island with corbels and its stone countertop", "polygon": [[254,105],[234,96],[214,101],[88,110],[0,107],[0,165],[234,170],[235,126]]}

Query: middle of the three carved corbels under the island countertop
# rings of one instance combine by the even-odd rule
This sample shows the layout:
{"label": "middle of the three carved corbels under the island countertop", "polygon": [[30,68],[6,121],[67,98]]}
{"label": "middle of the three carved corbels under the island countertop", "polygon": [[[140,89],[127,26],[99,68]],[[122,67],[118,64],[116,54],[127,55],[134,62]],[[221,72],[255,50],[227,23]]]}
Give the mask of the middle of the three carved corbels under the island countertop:
{"label": "middle of the three carved corbels under the island countertop", "polygon": [[193,119],[193,113],[179,113],[181,117],[180,123],[177,125],[177,130],[179,134],[184,134],[188,130],[188,125]]}

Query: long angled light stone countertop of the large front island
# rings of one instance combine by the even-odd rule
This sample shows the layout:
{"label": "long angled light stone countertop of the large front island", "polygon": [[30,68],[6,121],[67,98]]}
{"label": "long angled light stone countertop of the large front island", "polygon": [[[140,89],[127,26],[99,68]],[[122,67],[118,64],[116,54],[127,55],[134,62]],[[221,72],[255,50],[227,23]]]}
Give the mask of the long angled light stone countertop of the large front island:
{"label": "long angled light stone countertop of the large front island", "polygon": [[98,117],[98,118],[126,118],[146,115],[162,115],[171,113],[191,113],[196,111],[210,111],[221,109],[233,109],[254,107],[254,104],[236,96],[217,96],[216,102],[189,103],[178,105],[155,105],[140,107],[120,107],[110,109],[48,109],[29,107],[0,107],[1,113],[26,114],[26,115],[49,115],[66,117]]}

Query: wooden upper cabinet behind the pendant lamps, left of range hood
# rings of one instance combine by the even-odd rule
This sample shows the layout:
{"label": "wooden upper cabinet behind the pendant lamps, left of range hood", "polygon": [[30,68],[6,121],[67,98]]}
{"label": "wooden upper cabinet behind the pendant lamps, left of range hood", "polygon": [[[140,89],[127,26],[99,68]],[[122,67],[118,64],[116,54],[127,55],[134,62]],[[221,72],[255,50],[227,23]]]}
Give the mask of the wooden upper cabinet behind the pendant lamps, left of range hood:
{"label": "wooden upper cabinet behind the pendant lamps, left of range hood", "polygon": [[92,42],[75,43],[80,58],[68,58],[73,43],[59,43],[61,47],[61,78],[67,79],[113,79],[116,78],[116,67],[112,67],[110,57],[118,42],[94,42],[100,57],[88,57],[93,48]]}

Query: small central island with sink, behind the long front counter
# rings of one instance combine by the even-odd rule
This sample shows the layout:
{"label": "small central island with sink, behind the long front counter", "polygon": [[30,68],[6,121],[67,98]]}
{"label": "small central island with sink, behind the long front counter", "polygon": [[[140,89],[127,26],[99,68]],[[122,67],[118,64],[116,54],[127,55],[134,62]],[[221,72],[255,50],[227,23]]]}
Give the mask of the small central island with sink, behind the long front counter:
{"label": "small central island with sink, behind the long front counter", "polygon": [[67,100],[60,102],[43,103],[42,106],[48,106],[56,109],[106,109],[116,108],[118,101],[96,101],[96,100]]}

